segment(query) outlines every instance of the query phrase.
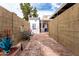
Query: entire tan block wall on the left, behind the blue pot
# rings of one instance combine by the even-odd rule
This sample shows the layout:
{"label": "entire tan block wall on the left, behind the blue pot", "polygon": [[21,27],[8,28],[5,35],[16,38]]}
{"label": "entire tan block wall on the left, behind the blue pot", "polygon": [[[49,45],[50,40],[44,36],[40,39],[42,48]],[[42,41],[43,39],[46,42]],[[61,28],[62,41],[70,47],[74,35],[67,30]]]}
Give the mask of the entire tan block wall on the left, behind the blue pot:
{"label": "entire tan block wall on the left, behind the blue pot", "polygon": [[22,25],[24,25],[24,30],[27,31],[29,28],[27,21],[0,6],[0,33],[3,33],[4,29],[10,28],[13,34],[13,44],[17,44],[21,40],[20,27]]}

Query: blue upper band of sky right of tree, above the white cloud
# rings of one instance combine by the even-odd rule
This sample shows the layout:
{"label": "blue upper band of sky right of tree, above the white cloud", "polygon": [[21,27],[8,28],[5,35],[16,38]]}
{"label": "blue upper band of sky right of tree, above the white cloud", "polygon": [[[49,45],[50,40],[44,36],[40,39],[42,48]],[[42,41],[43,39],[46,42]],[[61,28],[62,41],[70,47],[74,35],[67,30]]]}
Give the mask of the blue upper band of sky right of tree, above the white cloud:
{"label": "blue upper band of sky right of tree, above the white cloud", "polygon": [[[57,6],[59,6],[60,4],[57,3]],[[47,10],[47,11],[55,11],[55,9],[57,9],[57,6],[52,5],[52,3],[34,3],[32,4],[32,6],[36,7],[38,10]]]}

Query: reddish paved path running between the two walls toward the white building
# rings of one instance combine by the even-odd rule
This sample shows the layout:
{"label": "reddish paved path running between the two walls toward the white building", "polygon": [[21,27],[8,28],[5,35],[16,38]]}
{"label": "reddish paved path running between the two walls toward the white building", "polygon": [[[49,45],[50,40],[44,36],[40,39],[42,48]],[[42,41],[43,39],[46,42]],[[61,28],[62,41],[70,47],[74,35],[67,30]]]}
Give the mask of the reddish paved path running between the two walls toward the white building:
{"label": "reddish paved path running between the two walls toward the white building", "polygon": [[71,56],[71,52],[50,38],[48,33],[34,35],[21,56]]}

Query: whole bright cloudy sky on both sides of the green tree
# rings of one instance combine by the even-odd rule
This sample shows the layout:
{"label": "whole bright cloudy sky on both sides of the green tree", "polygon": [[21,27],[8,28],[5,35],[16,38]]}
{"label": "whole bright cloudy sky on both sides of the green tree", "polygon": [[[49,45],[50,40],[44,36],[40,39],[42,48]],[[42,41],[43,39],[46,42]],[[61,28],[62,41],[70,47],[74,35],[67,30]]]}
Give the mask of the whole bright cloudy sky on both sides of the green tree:
{"label": "whole bright cloudy sky on both sides of the green tree", "polygon": [[[20,3],[0,3],[0,6],[11,12],[15,12],[19,17],[23,18],[20,9]],[[38,15],[42,18],[44,15],[52,15],[61,6],[61,3],[31,3],[32,7],[36,7]]]}

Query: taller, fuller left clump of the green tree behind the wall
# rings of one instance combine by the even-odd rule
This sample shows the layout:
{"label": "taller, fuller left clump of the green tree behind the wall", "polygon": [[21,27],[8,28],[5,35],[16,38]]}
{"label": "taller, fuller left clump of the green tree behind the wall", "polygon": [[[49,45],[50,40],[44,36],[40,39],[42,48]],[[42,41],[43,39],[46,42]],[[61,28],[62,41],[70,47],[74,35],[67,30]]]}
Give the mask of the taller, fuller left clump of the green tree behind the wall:
{"label": "taller, fuller left clump of the green tree behind the wall", "polygon": [[31,14],[32,11],[30,3],[21,3],[20,7],[24,16],[23,18],[28,21],[28,16]]}

